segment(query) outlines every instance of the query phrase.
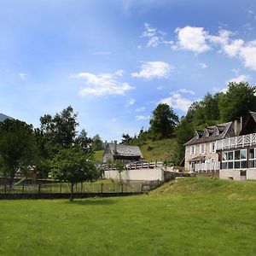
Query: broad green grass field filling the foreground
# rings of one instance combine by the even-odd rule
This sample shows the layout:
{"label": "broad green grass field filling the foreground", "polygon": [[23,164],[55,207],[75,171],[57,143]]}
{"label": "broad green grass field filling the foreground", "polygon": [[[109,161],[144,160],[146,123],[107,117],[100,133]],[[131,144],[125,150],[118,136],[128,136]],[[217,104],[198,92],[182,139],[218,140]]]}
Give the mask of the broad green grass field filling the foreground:
{"label": "broad green grass field filling the foreground", "polygon": [[149,195],[0,201],[0,255],[256,255],[256,182],[194,177]]}

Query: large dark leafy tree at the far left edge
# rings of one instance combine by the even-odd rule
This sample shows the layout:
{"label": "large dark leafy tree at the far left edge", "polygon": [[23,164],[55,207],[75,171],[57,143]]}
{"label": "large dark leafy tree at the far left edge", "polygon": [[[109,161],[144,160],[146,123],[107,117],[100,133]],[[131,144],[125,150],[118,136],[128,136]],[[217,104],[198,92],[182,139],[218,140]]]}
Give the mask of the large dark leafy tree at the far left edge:
{"label": "large dark leafy tree at the far left edge", "polygon": [[31,172],[38,159],[32,125],[17,119],[0,123],[0,155],[3,176],[9,177],[11,187],[16,172]]}

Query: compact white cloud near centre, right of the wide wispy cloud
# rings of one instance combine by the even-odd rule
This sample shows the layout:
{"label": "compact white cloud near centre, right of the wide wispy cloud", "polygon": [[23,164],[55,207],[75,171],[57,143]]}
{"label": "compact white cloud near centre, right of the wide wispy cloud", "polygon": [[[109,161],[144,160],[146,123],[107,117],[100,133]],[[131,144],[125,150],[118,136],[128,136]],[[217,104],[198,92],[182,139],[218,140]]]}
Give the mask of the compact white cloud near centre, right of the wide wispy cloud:
{"label": "compact white cloud near centre, right of the wide wispy cloud", "polygon": [[163,61],[143,62],[141,71],[138,73],[131,73],[131,77],[148,80],[167,78],[173,68],[174,67]]}

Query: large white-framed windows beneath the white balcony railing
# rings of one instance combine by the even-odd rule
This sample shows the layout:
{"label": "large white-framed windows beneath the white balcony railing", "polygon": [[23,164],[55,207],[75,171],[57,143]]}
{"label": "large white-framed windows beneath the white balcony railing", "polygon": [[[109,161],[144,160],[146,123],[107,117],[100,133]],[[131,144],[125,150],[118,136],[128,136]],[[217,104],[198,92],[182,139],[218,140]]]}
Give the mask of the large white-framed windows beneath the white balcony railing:
{"label": "large white-framed windows beneath the white balcony railing", "polygon": [[[250,152],[250,155],[255,156],[255,153],[256,151],[255,152],[252,151]],[[222,165],[221,165],[222,169],[247,168],[247,149],[223,152],[221,158],[222,158]],[[251,166],[255,164],[255,160],[254,159],[252,160]]]}

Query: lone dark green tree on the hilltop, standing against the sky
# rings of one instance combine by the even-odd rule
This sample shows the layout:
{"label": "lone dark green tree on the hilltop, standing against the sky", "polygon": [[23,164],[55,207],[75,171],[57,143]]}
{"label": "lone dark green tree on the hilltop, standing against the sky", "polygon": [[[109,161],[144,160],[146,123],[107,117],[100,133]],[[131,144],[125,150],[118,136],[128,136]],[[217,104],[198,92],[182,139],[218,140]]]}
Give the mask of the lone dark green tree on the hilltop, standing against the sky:
{"label": "lone dark green tree on the hilltop, standing against the sky", "polygon": [[149,131],[154,138],[161,139],[171,137],[174,128],[178,124],[178,117],[169,105],[160,103],[154,109],[149,124]]}

